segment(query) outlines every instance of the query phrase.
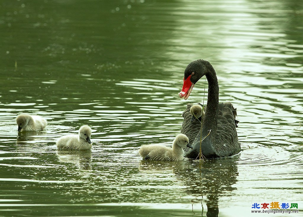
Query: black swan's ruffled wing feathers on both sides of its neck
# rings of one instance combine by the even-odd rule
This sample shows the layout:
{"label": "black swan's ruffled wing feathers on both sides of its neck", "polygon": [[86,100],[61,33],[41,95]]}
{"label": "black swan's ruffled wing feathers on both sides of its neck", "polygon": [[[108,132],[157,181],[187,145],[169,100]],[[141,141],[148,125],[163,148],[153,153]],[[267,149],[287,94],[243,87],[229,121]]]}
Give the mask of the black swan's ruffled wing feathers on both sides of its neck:
{"label": "black swan's ruffled wing feathers on both sides of its neck", "polygon": [[[186,110],[182,113],[184,121],[181,133],[187,135],[189,143],[194,146],[196,143],[200,142],[201,123],[199,121],[191,122],[191,106],[192,104],[188,103]],[[212,148],[215,150],[215,157],[231,156],[237,154],[241,150],[236,131],[236,124],[238,123],[238,121],[235,120],[236,114],[236,109],[231,103],[219,103],[217,131],[215,132],[216,143],[212,144]],[[202,143],[204,142],[207,142],[207,139]],[[207,158],[207,156],[205,157]],[[211,155],[210,157],[214,157],[214,155]]]}

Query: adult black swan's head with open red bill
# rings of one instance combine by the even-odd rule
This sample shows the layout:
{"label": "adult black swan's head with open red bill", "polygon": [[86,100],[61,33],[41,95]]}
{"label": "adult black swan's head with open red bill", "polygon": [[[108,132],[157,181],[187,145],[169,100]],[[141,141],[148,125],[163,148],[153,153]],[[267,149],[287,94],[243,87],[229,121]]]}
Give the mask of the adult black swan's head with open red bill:
{"label": "adult black swan's head with open red bill", "polygon": [[203,59],[189,63],[184,71],[183,87],[179,93],[179,97],[184,97],[187,100],[195,83],[208,72],[210,67],[212,67],[211,64]]}

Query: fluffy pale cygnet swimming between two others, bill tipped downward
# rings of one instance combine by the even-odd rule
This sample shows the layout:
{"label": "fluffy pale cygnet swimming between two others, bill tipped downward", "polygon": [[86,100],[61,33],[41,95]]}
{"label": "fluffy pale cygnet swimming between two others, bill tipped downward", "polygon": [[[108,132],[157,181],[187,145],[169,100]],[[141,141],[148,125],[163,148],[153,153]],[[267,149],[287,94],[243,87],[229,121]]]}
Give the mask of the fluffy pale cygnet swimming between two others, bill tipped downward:
{"label": "fluffy pale cygnet swimming between two others, bill tipped downward", "polygon": [[58,149],[91,149],[92,129],[87,125],[80,127],[79,134],[65,135],[57,141]]}

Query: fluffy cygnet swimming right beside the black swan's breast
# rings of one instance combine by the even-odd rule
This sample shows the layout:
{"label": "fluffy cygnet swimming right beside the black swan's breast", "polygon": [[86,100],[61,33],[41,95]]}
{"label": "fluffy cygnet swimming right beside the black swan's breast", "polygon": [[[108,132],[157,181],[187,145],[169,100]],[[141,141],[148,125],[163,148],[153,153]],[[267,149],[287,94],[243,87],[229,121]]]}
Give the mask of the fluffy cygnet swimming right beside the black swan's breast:
{"label": "fluffy cygnet swimming right beside the black swan's breast", "polygon": [[192,148],[188,137],[184,134],[178,134],[171,148],[161,144],[142,145],[139,154],[144,160],[182,161],[184,159],[183,148],[185,147]]}

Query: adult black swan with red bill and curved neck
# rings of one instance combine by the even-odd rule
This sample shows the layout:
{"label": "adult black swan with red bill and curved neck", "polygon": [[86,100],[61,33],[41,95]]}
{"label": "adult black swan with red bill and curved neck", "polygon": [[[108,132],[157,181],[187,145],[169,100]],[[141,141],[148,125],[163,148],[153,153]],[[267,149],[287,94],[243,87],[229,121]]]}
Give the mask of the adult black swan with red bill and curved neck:
{"label": "adult black swan with red bill and curved neck", "polygon": [[[179,96],[186,100],[195,83],[204,75],[208,81],[208,97],[202,121],[202,138],[209,133],[209,130],[211,131],[202,141],[201,152],[205,158],[221,158],[238,154],[241,147],[236,131],[238,121],[235,120],[235,116],[237,112],[230,102],[219,103],[218,79],[215,69],[208,61],[198,59],[188,64],[184,71],[184,83]],[[191,106],[192,104],[188,103],[182,114],[184,121],[181,133],[188,136],[189,143],[193,146],[192,150],[185,151],[185,157],[196,159],[200,153],[201,123],[191,121]]]}

